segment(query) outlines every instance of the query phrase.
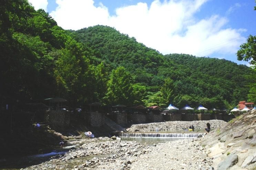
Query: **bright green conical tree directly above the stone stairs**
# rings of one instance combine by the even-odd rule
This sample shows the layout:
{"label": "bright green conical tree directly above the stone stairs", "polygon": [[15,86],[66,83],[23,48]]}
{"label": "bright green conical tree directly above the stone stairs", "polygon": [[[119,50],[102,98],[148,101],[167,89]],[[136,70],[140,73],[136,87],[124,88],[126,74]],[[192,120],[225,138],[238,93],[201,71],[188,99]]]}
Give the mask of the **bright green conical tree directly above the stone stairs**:
{"label": "bright green conical tree directly above the stone stairs", "polygon": [[110,104],[131,104],[131,74],[120,66],[112,70],[107,82],[106,102]]}

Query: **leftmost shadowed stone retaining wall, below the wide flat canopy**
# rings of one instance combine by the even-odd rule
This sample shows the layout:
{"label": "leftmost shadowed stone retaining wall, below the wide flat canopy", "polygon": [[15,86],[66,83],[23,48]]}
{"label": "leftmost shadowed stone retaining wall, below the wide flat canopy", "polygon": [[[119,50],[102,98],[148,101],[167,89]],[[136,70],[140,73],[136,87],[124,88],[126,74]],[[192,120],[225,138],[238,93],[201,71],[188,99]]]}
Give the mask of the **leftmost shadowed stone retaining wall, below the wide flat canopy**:
{"label": "leftmost shadowed stone retaining wall, below the wide flat canopy", "polygon": [[66,127],[70,124],[70,112],[62,110],[45,111],[45,122],[53,127]]}

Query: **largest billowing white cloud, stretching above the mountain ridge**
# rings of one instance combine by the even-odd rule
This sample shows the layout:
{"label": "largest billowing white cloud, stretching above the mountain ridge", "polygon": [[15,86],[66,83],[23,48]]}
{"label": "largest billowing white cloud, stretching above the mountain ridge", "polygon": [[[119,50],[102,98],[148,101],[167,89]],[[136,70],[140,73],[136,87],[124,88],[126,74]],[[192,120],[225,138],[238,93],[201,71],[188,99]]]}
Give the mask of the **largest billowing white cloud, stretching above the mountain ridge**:
{"label": "largest billowing white cloud, stretching above the mountain ridge", "polygon": [[227,18],[195,18],[207,0],[154,0],[150,6],[137,3],[118,8],[115,15],[110,15],[103,4],[96,7],[93,0],[56,2],[58,7],[50,15],[64,29],[109,25],[163,54],[235,54],[245,41],[240,34],[244,29],[226,28]]}

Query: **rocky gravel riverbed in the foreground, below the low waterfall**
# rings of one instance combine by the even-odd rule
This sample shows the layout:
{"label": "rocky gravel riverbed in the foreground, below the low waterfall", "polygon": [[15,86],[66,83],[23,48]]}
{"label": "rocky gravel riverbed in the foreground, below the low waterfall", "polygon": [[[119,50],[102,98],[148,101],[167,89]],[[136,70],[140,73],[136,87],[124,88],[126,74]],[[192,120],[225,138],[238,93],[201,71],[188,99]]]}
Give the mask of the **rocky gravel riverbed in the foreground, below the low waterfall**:
{"label": "rocky gravel riverbed in the foreground, below the low waterfall", "polygon": [[66,154],[23,170],[142,170],[212,169],[201,139],[141,144],[107,137],[72,141],[80,144]]}

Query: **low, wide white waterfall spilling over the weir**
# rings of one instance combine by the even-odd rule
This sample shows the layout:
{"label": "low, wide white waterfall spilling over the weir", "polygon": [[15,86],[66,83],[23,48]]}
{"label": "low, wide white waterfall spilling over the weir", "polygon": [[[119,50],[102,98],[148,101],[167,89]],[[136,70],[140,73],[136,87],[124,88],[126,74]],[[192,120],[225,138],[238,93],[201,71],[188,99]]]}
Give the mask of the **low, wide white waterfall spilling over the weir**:
{"label": "low, wide white waterfall spilling over the weir", "polygon": [[171,137],[171,138],[196,138],[205,133],[119,133],[119,137]]}

